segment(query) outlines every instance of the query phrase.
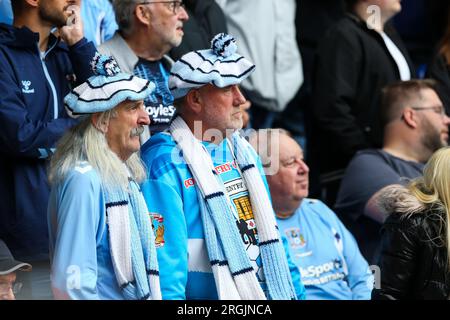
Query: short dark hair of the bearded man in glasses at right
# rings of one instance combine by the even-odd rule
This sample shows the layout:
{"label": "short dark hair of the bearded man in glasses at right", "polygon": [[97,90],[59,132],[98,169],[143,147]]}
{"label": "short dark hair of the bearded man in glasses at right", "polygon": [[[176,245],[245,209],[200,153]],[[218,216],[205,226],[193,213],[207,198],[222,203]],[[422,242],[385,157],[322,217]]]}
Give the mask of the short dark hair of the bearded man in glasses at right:
{"label": "short dark hair of the bearded man in glasses at right", "polygon": [[383,127],[401,117],[408,103],[422,99],[422,90],[436,90],[432,79],[412,79],[387,85],[381,91],[381,121]]}

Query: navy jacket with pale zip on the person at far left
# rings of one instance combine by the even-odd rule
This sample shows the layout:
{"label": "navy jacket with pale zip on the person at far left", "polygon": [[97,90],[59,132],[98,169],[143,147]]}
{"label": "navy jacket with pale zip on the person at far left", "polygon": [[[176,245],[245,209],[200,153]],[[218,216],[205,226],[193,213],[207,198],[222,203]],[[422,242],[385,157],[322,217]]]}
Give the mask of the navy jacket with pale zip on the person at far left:
{"label": "navy jacket with pale zip on the person at far left", "polygon": [[76,123],[63,99],[92,75],[96,52],[86,39],[68,48],[51,35],[41,54],[38,41],[26,27],[0,24],[0,238],[27,261],[48,259],[47,158]]}

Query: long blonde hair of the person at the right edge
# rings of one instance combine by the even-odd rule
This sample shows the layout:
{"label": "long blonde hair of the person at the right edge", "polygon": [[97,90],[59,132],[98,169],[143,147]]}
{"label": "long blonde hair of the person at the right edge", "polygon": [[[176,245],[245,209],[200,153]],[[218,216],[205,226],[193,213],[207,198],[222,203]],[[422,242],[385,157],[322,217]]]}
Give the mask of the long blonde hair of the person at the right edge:
{"label": "long blonde hair of the person at the right edge", "polygon": [[447,267],[450,266],[450,230],[448,227],[450,212],[450,147],[436,151],[426,164],[423,176],[412,180],[408,189],[430,209],[440,209],[445,215],[440,229],[444,229],[445,238],[441,239],[447,248]]}

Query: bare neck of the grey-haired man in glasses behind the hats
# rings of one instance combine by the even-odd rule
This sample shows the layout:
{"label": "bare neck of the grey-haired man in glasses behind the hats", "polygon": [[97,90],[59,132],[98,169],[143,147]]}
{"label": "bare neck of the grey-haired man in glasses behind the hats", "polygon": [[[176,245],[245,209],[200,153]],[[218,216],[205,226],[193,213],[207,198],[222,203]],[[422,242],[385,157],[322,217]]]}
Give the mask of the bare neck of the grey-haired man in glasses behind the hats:
{"label": "bare neck of the grey-haired man in glasses behind the hats", "polygon": [[161,60],[170,50],[170,48],[165,48],[155,36],[142,30],[134,30],[131,37],[123,35],[122,37],[138,57],[148,61]]}

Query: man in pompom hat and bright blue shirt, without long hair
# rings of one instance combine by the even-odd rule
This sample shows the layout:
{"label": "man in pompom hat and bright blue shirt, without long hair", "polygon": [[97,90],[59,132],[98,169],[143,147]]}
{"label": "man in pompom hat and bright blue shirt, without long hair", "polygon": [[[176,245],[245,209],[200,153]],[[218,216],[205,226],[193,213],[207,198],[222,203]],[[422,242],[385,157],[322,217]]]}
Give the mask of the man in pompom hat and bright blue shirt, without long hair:
{"label": "man in pompom hat and bright blue shirt, without long hair", "polygon": [[[178,116],[141,150],[164,299],[296,299],[258,157],[239,135],[239,90],[255,66],[219,34],[185,54],[169,87]],[[151,199],[161,196],[158,201]],[[294,268],[295,269],[295,268]]]}

